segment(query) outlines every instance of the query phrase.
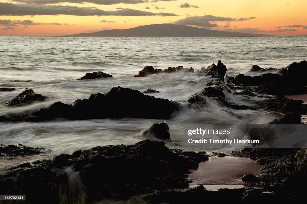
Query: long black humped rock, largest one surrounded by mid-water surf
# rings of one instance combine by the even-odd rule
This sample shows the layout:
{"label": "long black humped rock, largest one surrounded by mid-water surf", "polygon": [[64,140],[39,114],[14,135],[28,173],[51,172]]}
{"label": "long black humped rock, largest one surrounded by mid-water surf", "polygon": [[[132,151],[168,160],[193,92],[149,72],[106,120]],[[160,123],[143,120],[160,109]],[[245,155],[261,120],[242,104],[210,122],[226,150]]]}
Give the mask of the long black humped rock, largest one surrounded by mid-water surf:
{"label": "long black humped rock, largest one surrounded by mid-water surf", "polygon": [[[144,95],[138,90],[114,87],[105,94],[91,94],[72,105],[56,102],[31,114],[36,121],[66,118],[85,120],[92,118],[169,118],[179,107],[173,101]],[[33,117],[34,116],[34,117]]]}

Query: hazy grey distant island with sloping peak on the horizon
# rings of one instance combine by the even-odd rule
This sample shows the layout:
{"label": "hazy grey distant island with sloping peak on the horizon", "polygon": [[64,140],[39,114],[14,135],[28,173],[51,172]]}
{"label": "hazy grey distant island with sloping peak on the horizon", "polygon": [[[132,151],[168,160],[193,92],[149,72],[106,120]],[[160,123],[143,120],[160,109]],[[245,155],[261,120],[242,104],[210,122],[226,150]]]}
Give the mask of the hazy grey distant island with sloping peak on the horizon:
{"label": "hazy grey distant island with sloping peak on the horizon", "polygon": [[94,33],[61,35],[56,37],[258,37],[263,34],[227,32],[181,26],[175,24],[155,24],[129,29],[102,30]]}

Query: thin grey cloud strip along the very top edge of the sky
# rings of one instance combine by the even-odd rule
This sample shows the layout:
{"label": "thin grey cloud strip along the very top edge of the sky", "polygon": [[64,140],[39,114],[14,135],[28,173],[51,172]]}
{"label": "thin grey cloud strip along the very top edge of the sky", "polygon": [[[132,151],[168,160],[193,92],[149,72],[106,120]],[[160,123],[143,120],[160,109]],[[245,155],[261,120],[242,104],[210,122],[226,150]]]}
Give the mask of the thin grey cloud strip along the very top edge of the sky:
{"label": "thin grey cloud strip along the very top edge of the sky", "polygon": [[58,4],[58,3],[93,3],[99,5],[113,5],[113,4],[138,4],[148,2],[169,2],[177,0],[11,0],[12,2],[21,2],[26,4]]}

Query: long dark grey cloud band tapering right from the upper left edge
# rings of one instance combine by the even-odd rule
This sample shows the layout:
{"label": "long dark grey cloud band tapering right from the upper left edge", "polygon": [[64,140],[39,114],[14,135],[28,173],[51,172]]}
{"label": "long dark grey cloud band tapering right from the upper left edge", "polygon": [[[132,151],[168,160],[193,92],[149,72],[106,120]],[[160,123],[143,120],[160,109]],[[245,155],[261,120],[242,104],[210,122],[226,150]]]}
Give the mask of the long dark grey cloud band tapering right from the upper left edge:
{"label": "long dark grey cloud band tapering right from the upper left edge", "polygon": [[177,16],[173,13],[152,13],[134,9],[105,11],[95,7],[13,4],[0,2],[0,15],[75,15],[75,16]]}

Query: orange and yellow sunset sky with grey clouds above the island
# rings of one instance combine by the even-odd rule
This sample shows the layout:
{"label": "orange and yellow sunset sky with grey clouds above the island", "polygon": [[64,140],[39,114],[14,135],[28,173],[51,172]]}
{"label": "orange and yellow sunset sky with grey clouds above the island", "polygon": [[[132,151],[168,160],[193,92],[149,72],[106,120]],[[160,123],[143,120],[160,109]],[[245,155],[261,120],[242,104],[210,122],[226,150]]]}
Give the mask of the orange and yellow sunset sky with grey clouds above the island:
{"label": "orange and yellow sunset sky with grey clouds above the island", "polygon": [[0,0],[0,36],[55,36],[173,23],[307,35],[306,0]]}

